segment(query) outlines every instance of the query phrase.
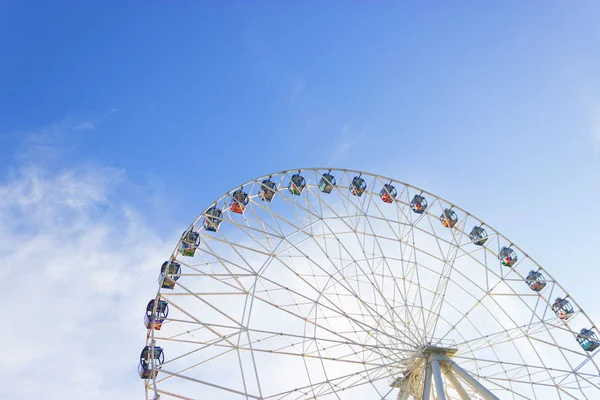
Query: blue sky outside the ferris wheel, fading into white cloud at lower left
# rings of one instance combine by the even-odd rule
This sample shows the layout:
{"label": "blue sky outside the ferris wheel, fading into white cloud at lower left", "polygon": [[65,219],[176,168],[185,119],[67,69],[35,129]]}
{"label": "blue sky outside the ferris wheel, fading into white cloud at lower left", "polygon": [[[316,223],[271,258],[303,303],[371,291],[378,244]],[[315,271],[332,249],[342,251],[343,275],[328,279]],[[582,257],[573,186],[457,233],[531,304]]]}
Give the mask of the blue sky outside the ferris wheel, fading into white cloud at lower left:
{"label": "blue sky outside the ferris wheel, fading into white cloud at lower left", "polygon": [[[599,3],[122,3],[0,2],[0,265],[28,264],[23,302],[41,296],[48,259],[71,265],[80,252],[79,277],[102,265],[87,266],[92,253],[152,263],[225,191],[332,165],[456,202],[600,316],[597,284],[585,278],[598,265]],[[103,230],[88,238],[91,227]],[[129,249],[112,243],[136,230],[153,244],[139,259],[134,233]],[[27,237],[47,253],[21,259]],[[67,252],[62,240],[85,243]],[[141,321],[156,268],[122,268],[90,305],[106,296]],[[118,276],[128,290],[109,290]],[[61,301],[65,315],[89,312]],[[126,343],[142,345],[139,321],[123,330]],[[139,349],[130,353],[119,365],[131,365],[131,379],[119,378],[111,398],[141,395]],[[29,382],[23,368],[15,382]],[[0,397],[39,398],[24,385]]]}

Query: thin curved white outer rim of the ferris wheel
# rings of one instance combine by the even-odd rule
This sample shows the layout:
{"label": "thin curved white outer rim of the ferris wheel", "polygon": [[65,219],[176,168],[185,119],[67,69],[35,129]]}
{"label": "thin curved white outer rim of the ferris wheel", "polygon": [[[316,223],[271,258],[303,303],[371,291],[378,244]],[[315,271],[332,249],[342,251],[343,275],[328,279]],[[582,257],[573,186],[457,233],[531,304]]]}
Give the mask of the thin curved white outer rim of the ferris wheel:
{"label": "thin curved white outer rim of the ferris wheel", "polygon": [[[406,182],[403,182],[403,181],[399,181],[397,179],[393,179],[393,178],[390,178],[390,177],[384,176],[384,175],[378,175],[378,174],[374,174],[374,173],[370,173],[370,172],[366,172],[366,171],[361,171],[361,170],[356,170],[356,169],[335,168],[335,167],[291,168],[291,169],[286,169],[286,170],[271,172],[271,173],[265,174],[265,175],[260,175],[260,176],[254,178],[254,179],[250,179],[249,181],[244,182],[241,185],[234,186],[233,188],[231,188],[230,190],[228,190],[224,194],[222,194],[220,197],[218,197],[215,201],[211,202],[210,205],[208,207],[206,207],[200,213],[200,215],[198,215],[198,217],[196,217],[194,219],[194,222],[192,222],[187,229],[191,229],[194,226],[196,226],[196,224],[198,224],[202,220],[202,218],[204,218],[204,214],[206,213],[206,211],[210,207],[212,207],[214,205],[217,205],[218,203],[220,203],[220,202],[226,200],[227,198],[231,197],[231,193],[234,190],[239,189],[240,187],[245,187],[245,186],[253,184],[253,183],[260,183],[260,181],[262,181],[263,179],[270,178],[272,176],[285,175],[285,174],[288,174],[288,173],[296,173],[296,172],[301,173],[301,172],[304,172],[304,171],[316,171],[316,172],[319,172],[319,173],[325,173],[325,172],[329,171],[332,174],[337,171],[337,172],[342,172],[342,173],[362,174],[362,175],[365,175],[365,176],[370,176],[370,177],[373,177],[373,178],[379,178],[379,179],[384,180],[384,181],[390,181],[391,183],[395,183],[395,184],[398,184],[398,185],[406,186],[408,188],[411,188],[413,190],[421,192],[421,194],[425,194],[425,195],[431,196],[431,197],[433,197],[433,198],[435,198],[437,200],[440,200],[442,202],[445,202],[445,203],[449,204],[452,209],[459,210],[462,213],[464,213],[464,215],[460,216],[459,219],[468,216],[470,218],[473,218],[474,220],[479,221],[481,223],[481,226],[485,226],[485,227],[489,228],[498,237],[504,239],[505,242],[506,242],[506,246],[510,246],[510,247],[512,247],[514,249],[517,249],[525,258],[528,258],[533,264],[535,264],[535,266],[537,266],[539,268],[539,271],[544,271],[544,275],[545,275],[546,281],[551,281],[551,282],[554,283],[554,285],[556,285],[557,287],[559,287],[566,294],[566,297],[568,297],[569,302],[572,303],[572,305],[574,306],[575,312],[577,314],[583,315],[592,324],[591,327],[585,327],[585,329],[592,329],[592,330],[596,329],[596,330],[598,330],[596,324],[594,323],[594,321],[592,321],[592,319],[586,314],[586,312],[581,308],[581,306],[571,296],[571,294],[569,294],[569,292],[560,283],[558,283],[558,281],[556,281],[552,277],[552,275],[545,268],[543,268],[537,261],[535,261],[535,259],[533,257],[531,257],[529,254],[527,254],[525,251],[523,251],[523,249],[521,249],[518,245],[514,244],[511,240],[509,240],[506,236],[504,236],[502,233],[500,233],[497,229],[495,229],[494,227],[492,227],[491,225],[489,225],[488,223],[486,223],[482,219],[480,219],[480,218],[476,217],[475,215],[469,213],[468,211],[466,211],[465,209],[461,208],[460,206],[457,206],[455,203],[446,200],[443,197],[440,197],[440,196],[438,196],[438,195],[436,195],[434,193],[431,193],[431,192],[429,192],[429,191],[427,191],[425,189],[421,189],[421,188],[419,188],[417,186],[414,186],[414,185],[411,185],[409,183],[406,183]],[[335,174],[334,174],[334,176],[335,176]],[[281,187],[279,189],[281,189]],[[279,189],[277,191],[279,191]],[[368,186],[367,186],[366,192],[367,193],[369,192]],[[373,194],[375,192],[370,192],[370,193]],[[277,194],[277,192],[275,194]],[[256,194],[256,193],[249,193],[248,194],[249,198],[252,198],[252,197],[255,197],[255,196],[258,196],[258,194]],[[429,199],[428,199],[428,203],[429,203],[429,205],[433,204],[433,202],[430,202]],[[428,205],[428,208],[429,208],[429,205]],[[452,228],[452,229],[456,229],[456,228]],[[462,233],[468,235],[467,232],[462,231]],[[489,232],[488,232],[488,235],[489,235]],[[175,246],[175,249],[171,253],[171,257],[170,257],[171,260],[175,259],[177,257],[180,245],[181,245],[181,239],[179,239],[179,241],[177,242],[177,245]],[[510,267],[510,269],[514,269],[517,265],[519,265],[519,263],[521,261],[522,261],[522,259],[519,259],[519,262],[517,264],[515,264],[515,266]],[[161,289],[162,289],[161,288],[161,284],[159,283],[159,285],[158,285],[158,291],[156,293],[155,299],[160,299],[161,298]],[[542,296],[542,294],[540,292],[538,292],[538,295]],[[550,304],[550,302],[548,302],[548,304]],[[564,325],[566,325],[569,328],[569,331],[576,332],[575,330],[571,329],[571,327],[570,327],[570,325],[568,323],[569,320],[562,320],[561,319],[561,321],[563,322]],[[148,329],[148,333],[149,334],[146,337],[146,345],[152,344],[152,346],[153,346],[153,343],[154,343],[154,329]],[[591,358],[592,358],[592,355],[590,353],[590,354],[588,354],[588,358],[582,363],[582,365],[584,363],[586,363],[587,361],[591,360]],[[578,368],[580,368],[582,365],[580,365]],[[154,389],[156,390],[155,379],[152,379],[152,381],[153,381]],[[146,384],[146,387],[147,386],[148,385]],[[147,400],[151,400],[148,397],[148,391],[147,390],[146,390],[146,399]]]}

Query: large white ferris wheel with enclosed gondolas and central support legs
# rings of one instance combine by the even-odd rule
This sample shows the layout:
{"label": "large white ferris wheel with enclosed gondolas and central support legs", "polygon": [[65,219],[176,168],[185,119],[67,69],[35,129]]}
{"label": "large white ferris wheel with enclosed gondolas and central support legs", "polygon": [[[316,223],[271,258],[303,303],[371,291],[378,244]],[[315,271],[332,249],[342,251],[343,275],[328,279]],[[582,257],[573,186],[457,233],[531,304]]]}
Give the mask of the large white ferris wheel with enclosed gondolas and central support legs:
{"label": "large white ferris wheel with enclosed gondolas and central support legs", "polygon": [[390,178],[251,180],[157,267],[147,400],[600,398],[598,328],[571,295],[482,220]]}

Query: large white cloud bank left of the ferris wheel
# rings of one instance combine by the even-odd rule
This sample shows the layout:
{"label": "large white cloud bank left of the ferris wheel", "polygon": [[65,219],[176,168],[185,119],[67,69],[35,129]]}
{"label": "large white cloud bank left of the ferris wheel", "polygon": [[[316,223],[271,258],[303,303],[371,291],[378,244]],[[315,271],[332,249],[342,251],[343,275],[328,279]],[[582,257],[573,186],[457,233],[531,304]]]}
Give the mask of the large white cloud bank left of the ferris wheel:
{"label": "large white cloud bank left of the ferris wheel", "polygon": [[[58,154],[72,131],[63,121],[24,146]],[[152,295],[172,243],[120,200],[124,171],[28,160],[0,182],[0,398],[138,398],[140,292]]]}

